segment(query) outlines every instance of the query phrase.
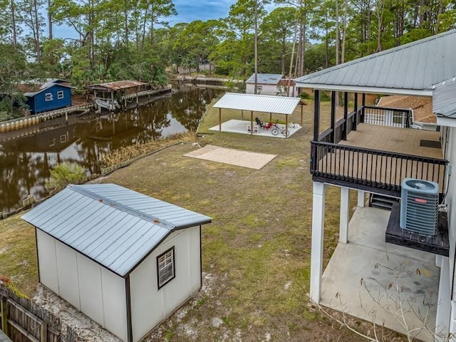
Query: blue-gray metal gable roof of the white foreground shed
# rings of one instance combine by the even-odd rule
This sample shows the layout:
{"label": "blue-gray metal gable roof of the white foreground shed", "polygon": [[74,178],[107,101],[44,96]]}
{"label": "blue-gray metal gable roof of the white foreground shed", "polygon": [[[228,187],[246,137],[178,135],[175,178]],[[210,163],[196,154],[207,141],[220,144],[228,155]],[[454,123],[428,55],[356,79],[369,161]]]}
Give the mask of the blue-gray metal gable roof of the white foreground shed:
{"label": "blue-gray metal gable roof of the white foreground shed", "polygon": [[114,184],[68,185],[22,219],[119,276],[171,232],[212,221]]}

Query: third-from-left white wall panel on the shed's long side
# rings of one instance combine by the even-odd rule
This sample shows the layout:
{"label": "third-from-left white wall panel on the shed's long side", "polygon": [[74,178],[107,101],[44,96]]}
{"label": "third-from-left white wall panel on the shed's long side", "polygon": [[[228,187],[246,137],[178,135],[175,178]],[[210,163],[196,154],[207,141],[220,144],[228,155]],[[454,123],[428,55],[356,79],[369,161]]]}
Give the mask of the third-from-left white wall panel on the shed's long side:
{"label": "third-from-left white wall panel on the shed's long side", "polygon": [[101,266],[80,253],[77,254],[77,258],[81,311],[100,324],[100,326],[105,326],[103,320]]}

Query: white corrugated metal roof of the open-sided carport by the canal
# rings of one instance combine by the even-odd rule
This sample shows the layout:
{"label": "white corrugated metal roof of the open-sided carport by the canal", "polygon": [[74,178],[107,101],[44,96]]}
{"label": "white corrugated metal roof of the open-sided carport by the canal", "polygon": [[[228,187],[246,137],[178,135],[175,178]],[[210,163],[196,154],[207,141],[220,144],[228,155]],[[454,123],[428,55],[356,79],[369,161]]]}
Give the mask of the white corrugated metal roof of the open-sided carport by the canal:
{"label": "white corrugated metal roof of the open-sided carport by the canal", "polygon": [[299,103],[301,103],[301,98],[226,93],[214,104],[214,108],[291,115]]}

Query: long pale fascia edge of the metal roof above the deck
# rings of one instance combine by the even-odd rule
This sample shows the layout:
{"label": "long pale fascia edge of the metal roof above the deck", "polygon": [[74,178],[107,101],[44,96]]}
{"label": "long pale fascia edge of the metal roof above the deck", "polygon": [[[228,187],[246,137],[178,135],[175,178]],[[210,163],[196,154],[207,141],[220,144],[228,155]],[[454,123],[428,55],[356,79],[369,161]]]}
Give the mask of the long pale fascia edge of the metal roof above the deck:
{"label": "long pale fascia edge of the metal roof above the deck", "polygon": [[298,88],[314,88],[314,89],[318,89],[318,90],[348,91],[350,93],[432,96],[432,90],[374,88],[374,87],[363,87],[363,86],[335,86],[335,85],[331,85],[331,84],[299,83],[299,82],[296,82],[296,86]]}

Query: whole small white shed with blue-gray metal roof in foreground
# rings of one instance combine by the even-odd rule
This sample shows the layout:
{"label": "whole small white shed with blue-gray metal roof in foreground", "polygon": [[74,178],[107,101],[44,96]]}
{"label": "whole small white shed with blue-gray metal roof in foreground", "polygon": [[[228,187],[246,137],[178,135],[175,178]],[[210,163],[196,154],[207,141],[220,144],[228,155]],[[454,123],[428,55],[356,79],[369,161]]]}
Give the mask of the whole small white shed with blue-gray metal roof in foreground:
{"label": "whole small white shed with blue-gray metal roof in foreground", "polygon": [[211,218],[118,185],[69,185],[24,214],[38,276],[114,333],[140,341],[202,286]]}

